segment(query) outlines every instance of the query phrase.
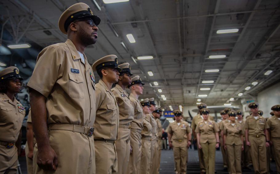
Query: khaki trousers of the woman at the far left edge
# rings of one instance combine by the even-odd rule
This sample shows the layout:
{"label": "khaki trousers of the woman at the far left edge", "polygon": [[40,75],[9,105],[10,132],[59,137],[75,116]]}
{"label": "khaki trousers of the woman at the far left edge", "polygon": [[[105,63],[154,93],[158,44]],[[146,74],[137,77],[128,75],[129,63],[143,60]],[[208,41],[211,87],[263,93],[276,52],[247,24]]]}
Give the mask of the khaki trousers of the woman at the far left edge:
{"label": "khaki trousers of the woman at the far left edge", "polygon": [[0,173],[16,174],[18,170],[18,149],[0,145]]}

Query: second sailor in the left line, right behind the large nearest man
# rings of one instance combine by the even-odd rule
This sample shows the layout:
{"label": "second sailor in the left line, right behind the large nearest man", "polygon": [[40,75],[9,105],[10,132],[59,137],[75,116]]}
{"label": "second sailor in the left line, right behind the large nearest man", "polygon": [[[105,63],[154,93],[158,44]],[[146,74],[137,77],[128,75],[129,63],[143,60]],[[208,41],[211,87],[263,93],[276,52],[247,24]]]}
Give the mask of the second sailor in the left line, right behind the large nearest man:
{"label": "second sailor in the left line, right behind the large nearest man", "polygon": [[111,91],[117,83],[121,68],[116,55],[107,55],[92,65],[100,77],[96,87],[96,119],[94,122],[94,147],[96,173],[111,174],[118,172],[115,142],[118,138],[119,108]]}

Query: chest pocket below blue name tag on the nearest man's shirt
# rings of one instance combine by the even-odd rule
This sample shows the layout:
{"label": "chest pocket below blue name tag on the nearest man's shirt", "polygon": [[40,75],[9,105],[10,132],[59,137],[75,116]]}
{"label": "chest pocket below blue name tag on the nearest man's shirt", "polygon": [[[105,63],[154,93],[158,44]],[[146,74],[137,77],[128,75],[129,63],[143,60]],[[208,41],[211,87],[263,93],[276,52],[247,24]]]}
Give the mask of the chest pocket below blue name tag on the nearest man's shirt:
{"label": "chest pocket below blue name tag on the nearest man's shirt", "polygon": [[69,96],[72,98],[84,98],[83,82],[84,78],[78,74],[69,74]]}

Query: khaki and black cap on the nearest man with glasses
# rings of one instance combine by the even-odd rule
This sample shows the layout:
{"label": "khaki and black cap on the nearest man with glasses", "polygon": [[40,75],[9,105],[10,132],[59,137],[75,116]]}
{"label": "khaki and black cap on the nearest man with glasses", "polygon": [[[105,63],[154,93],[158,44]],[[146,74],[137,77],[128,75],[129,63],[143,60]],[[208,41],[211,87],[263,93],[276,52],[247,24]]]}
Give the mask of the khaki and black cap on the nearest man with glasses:
{"label": "khaki and black cap on the nearest man with glasses", "polygon": [[60,31],[64,34],[67,34],[67,28],[74,20],[87,20],[92,19],[95,25],[100,24],[100,18],[98,16],[93,15],[90,6],[85,3],[79,2],[68,9],[66,9],[58,20],[58,27]]}

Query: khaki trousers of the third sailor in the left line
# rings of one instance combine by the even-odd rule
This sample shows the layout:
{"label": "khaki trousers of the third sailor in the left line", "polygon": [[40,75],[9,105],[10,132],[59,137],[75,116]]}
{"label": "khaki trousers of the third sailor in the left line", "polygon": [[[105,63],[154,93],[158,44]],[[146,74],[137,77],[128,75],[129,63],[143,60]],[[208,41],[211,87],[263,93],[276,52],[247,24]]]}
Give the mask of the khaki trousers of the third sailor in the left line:
{"label": "khaki trousers of the third sailor in the left line", "polygon": [[130,129],[118,128],[118,139],[116,140],[118,156],[118,173],[126,174],[130,155]]}

